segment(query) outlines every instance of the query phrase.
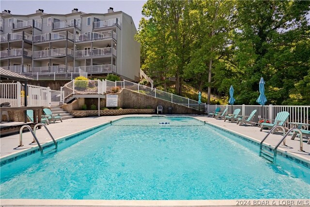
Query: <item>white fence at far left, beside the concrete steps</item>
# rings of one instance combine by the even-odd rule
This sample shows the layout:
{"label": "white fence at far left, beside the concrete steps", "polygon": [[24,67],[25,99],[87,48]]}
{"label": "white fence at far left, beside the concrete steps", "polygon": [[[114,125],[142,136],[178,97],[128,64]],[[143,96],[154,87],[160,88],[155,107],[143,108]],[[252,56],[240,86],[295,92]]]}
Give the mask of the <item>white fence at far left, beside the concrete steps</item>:
{"label": "white fence at far left, beside the concrete steps", "polygon": [[50,90],[49,87],[27,85],[27,94],[25,94],[25,85],[20,82],[0,83],[0,102],[10,102],[12,107],[25,105],[25,96],[27,106],[57,106],[62,104],[62,94],[60,91]]}

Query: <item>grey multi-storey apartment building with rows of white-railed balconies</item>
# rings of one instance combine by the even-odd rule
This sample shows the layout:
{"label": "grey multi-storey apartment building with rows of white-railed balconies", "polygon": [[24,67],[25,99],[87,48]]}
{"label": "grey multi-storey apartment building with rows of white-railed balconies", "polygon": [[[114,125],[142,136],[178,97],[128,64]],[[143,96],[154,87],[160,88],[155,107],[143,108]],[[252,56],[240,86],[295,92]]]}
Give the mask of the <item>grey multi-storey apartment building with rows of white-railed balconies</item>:
{"label": "grey multi-storey apartment building with rows of white-railed balconies", "polygon": [[[0,66],[37,80],[72,79],[81,72],[139,80],[140,44],[132,17],[105,14],[0,15]],[[56,77],[56,78],[55,78]]]}

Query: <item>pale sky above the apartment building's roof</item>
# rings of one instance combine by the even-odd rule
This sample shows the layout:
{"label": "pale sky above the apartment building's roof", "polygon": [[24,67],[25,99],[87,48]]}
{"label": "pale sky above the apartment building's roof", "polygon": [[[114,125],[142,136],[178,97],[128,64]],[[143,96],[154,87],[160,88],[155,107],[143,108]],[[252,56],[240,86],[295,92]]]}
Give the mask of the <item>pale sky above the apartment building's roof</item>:
{"label": "pale sky above the apartment building's roof", "polygon": [[138,29],[144,3],[146,0],[0,0],[0,9],[10,10],[14,15],[29,15],[38,9],[47,14],[69,14],[74,8],[84,13],[108,13],[112,7],[114,12],[132,16]]}

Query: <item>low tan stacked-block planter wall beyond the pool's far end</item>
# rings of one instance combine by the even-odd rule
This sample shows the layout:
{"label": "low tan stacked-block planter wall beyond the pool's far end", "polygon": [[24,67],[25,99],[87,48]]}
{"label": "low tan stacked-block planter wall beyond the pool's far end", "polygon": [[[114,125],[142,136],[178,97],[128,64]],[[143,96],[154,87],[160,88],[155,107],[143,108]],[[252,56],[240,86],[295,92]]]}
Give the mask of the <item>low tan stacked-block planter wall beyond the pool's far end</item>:
{"label": "low tan stacked-block planter wall beyond the pool's far end", "polygon": [[[100,110],[100,116],[118,116],[125,114],[154,114],[155,109],[111,109],[111,110]],[[75,118],[98,116],[98,110],[86,110],[86,111],[72,111],[71,115]]]}

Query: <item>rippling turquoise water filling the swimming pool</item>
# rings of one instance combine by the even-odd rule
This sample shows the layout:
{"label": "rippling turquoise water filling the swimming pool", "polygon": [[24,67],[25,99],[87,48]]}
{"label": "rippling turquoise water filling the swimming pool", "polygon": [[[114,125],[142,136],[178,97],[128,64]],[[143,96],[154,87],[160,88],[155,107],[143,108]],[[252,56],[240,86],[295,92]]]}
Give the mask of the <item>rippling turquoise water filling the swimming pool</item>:
{"label": "rippling turquoise water filling the swimming pool", "polygon": [[309,169],[258,149],[191,118],[126,118],[2,166],[0,198],[310,198]]}

